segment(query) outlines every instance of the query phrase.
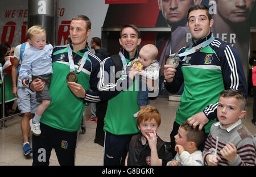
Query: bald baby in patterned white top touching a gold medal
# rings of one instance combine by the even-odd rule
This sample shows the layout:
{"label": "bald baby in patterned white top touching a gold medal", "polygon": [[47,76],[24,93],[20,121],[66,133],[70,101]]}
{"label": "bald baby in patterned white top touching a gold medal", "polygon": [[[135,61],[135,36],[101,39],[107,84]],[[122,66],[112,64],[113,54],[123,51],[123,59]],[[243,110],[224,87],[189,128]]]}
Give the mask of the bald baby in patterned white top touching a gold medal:
{"label": "bald baby in patterned white top touching a gold medal", "polygon": [[[150,100],[148,99],[148,86],[150,86],[150,90],[154,90],[155,80],[159,77],[159,70],[160,65],[159,62],[156,60],[158,56],[158,48],[155,45],[147,44],[144,45],[141,50],[139,50],[139,57],[136,60],[131,61],[128,64],[127,70],[130,70],[129,66],[133,65],[134,62],[139,61],[143,69],[139,71],[139,74],[143,78],[147,78],[148,85],[142,81],[142,77],[139,78],[139,93],[138,93],[138,105],[139,109],[142,109],[146,106],[149,106]],[[152,86],[150,85],[151,82],[154,83]],[[157,95],[156,95],[157,96]],[[139,112],[139,111],[138,111]],[[134,113],[134,117],[138,116],[138,112]]]}

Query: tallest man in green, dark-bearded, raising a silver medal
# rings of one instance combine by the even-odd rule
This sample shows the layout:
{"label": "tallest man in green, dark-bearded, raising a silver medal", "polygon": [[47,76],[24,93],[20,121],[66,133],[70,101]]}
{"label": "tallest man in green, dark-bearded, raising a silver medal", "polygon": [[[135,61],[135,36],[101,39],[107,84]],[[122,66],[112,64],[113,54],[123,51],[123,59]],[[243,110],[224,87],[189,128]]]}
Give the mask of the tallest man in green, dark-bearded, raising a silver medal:
{"label": "tallest man in green, dark-bearded, raising a silver medal", "polygon": [[[176,93],[184,82],[184,91],[170,134],[173,155],[176,154],[174,136],[184,121],[194,128],[199,125],[200,130],[204,126],[207,137],[210,125],[216,121],[221,91],[230,88],[241,90],[247,98],[241,58],[231,45],[212,37],[210,27],[213,19],[208,7],[192,6],[188,10],[187,24],[193,36],[192,44],[171,55],[181,60],[176,69],[172,65],[164,65],[164,84],[169,92]],[[171,62],[177,63],[175,60]],[[204,144],[199,149],[203,147]]]}

